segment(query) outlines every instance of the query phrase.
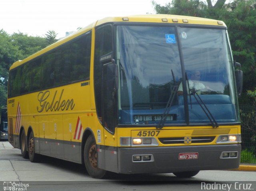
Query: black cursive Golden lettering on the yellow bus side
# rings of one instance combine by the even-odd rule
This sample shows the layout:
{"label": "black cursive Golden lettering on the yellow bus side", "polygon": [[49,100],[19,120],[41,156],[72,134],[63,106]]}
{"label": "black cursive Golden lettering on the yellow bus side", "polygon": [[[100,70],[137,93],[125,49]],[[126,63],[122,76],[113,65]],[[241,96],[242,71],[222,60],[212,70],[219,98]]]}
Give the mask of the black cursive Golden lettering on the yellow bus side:
{"label": "black cursive Golden lettering on the yellow bus side", "polygon": [[61,93],[60,93],[60,97],[56,98],[57,95],[57,90],[54,93],[54,96],[52,98],[52,100],[48,100],[48,97],[50,96],[50,91],[41,91],[38,94],[38,101],[40,106],[37,106],[37,111],[38,112],[42,112],[43,110],[45,110],[46,112],[50,111],[59,111],[59,110],[68,110],[69,108],[71,110],[74,109],[74,100],[62,100],[62,94],[64,92],[64,89],[62,89]]}

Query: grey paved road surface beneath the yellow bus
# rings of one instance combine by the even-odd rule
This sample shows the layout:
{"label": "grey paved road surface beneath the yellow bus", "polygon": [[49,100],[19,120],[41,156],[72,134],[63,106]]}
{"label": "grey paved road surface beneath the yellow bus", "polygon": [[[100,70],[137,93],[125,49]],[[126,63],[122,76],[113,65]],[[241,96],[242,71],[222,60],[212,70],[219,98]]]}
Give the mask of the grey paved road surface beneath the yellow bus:
{"label": "grey paved road surface beneath the yellow bus", "polygon": [[[0,142],[0,191],[8,182],[16,190],[26,188],[26,191],[256,190],[256,171],[200,171],[192,178],[178,178],[172,173],[112,173],[108,179],[93,179],[83,165],[50,157],[31,163],[22,158],[20,150],[12,148],[8,142]],[[25,187],[26,184],[29,186]]]}

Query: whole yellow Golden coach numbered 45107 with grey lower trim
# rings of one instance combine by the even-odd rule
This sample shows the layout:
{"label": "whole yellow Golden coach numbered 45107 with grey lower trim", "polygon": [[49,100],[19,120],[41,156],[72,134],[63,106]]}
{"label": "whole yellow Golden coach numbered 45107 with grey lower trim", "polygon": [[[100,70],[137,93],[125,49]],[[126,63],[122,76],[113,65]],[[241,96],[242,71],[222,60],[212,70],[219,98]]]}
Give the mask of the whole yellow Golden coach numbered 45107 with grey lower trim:
{"label": "whole yellow Golden coach numbered 45107 with grey lower trim", "polygon": [[237,168],[237,65],[224,22],[104,18],[10,67],[8,139],[95,178]]}

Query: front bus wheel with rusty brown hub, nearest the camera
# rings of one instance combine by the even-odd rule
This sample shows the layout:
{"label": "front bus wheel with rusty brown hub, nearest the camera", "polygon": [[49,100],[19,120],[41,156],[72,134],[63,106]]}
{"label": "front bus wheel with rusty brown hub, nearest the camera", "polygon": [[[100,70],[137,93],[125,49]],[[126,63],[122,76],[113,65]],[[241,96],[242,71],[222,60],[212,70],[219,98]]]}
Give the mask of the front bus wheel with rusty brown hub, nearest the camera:
{"label": "front bus wheel with rusty brown hub, nearest the camera", "polygon": [[101,179],[106,175],[106,170],[98,168],[97,159],[96,143],[93,136],[90,135],[84,144],[84,165],[91,177]]}

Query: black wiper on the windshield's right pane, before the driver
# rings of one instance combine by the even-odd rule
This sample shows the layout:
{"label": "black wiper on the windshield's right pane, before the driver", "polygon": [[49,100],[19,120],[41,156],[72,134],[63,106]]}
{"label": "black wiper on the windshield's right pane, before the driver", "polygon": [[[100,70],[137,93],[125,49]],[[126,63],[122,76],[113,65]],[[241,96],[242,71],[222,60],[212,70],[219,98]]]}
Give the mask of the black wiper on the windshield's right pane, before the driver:
{"label": "black wiper on the windshield's right pane, before the driver", "polygon": [[[186,81],[188,82],[188,77],[187,77],[187,73],[186,73]],[[210,110],[206,107],[206,105],[204,104],[203,100],[200,98],[200,96],[198,95],[198,93],[195,91],[195,89],[190,89],[189,88],[189,83],[188,83],[188,89],[189,89],[189,96],[190,96],[190,105],[191,105],[191,109],[192,109],[192,101],[191,101],[191,94],[194,96],[194,98],[196,99],[196,101],[198,102],[198,104],[200,105],[200,107],[202,108],[202,110],[204,111],[204,113],[206,114],[207,118],[210,120],[212,127],[213,128],[218,128],[219,125],[216,122],[216,120],[214,119],[214,117],[212,116],[212,113],[210,112]],[[196,98],[196,96],[199,98]],[[202,104],[200,103],[202,102]],[[204,107],[203,107],[204,106]]]}

